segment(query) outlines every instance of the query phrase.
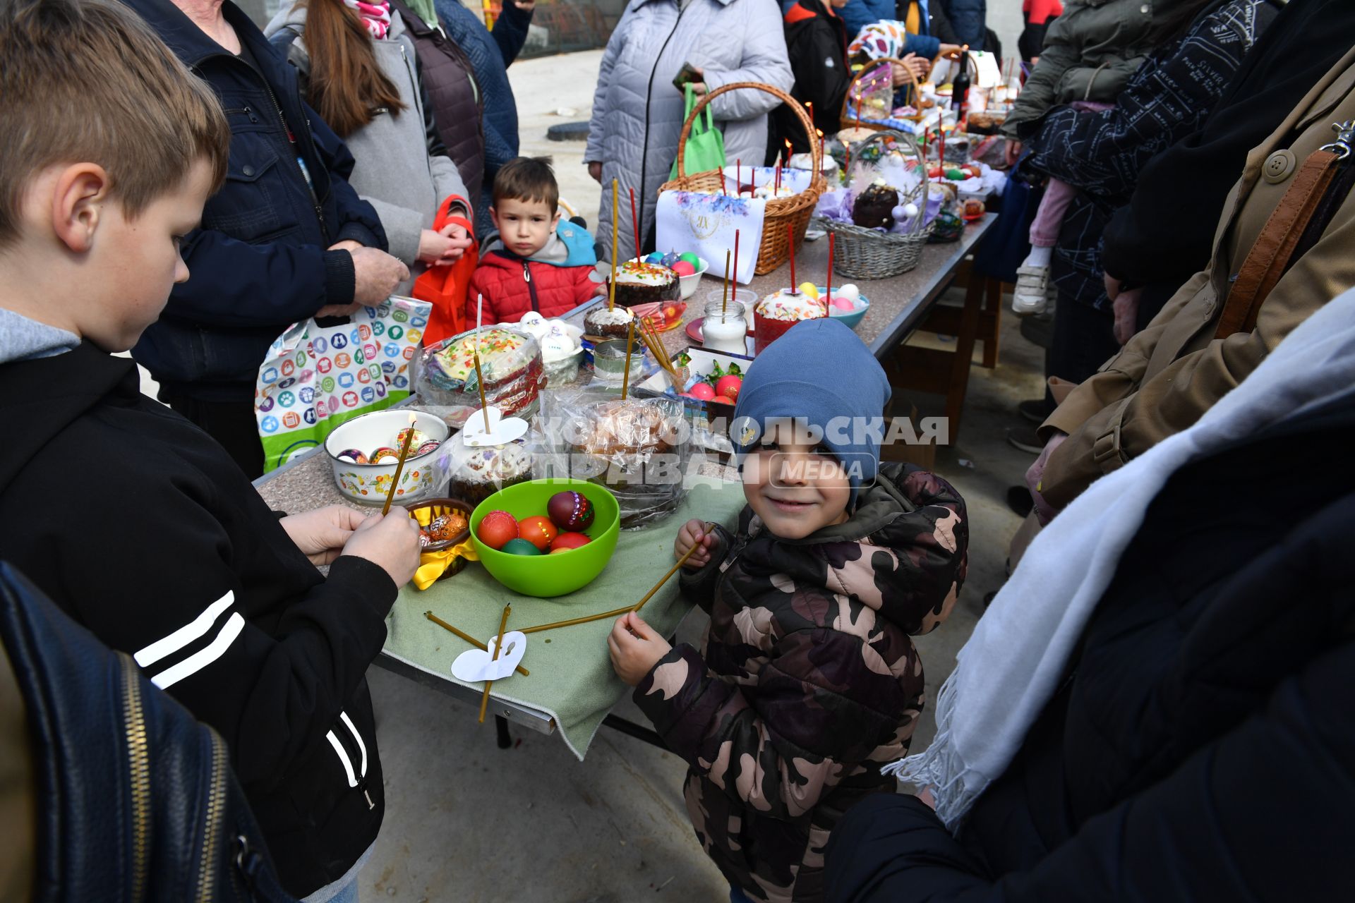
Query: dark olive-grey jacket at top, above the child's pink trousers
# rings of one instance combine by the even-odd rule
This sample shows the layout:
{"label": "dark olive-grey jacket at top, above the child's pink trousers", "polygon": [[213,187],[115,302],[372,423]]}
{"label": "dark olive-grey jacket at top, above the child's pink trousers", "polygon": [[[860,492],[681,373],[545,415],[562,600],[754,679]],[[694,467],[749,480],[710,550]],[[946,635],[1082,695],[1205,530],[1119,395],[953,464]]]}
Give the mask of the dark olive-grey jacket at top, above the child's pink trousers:
{"label": "dark olive-grey jacket at top, above the child's pink trousers", "polygon": [[1149,32],[1186,0],[1070,0],[1045,34],[1035,70],[1003,134],[1028,137],[1050,107],[1075,100],[1114,103],[1148,54]]}

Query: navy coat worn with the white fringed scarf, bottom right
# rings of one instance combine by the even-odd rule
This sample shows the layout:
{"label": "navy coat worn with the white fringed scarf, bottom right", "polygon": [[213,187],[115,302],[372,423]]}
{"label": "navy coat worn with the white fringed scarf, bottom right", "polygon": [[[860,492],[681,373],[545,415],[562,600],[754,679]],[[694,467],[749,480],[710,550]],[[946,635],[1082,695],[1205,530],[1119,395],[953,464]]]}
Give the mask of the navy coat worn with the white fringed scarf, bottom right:
{"label": "navy coat worn with the white fringed scarf, bottom right", "polygon": [[827,899],[1350,899],[1351,441],[1347,395],[1173,475],[958,839],[875,796],[833,831]]}

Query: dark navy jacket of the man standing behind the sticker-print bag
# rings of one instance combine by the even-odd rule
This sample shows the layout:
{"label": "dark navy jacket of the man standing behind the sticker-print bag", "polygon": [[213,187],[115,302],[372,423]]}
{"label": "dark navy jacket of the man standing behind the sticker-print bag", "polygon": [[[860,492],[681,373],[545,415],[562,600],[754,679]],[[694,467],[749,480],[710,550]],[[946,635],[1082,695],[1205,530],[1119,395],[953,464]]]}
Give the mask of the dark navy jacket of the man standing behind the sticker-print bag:
{"label": "dark navy jacket of the man standing behind the sticker-print bag", "polygon": [[173,287],[133,356],[175,391],[248,399],[268,345],[289,324],[352,302],[352,257],[327,248],[354,240],[385,250],[386,236],[377,211],[348,185],[348,149],[301,100],[295,70],[238,7],[226,0],[222,14],[257,70],[169,0],[125,1],[211,84],[230,125],[226,181],[183,244],[191,276]]}

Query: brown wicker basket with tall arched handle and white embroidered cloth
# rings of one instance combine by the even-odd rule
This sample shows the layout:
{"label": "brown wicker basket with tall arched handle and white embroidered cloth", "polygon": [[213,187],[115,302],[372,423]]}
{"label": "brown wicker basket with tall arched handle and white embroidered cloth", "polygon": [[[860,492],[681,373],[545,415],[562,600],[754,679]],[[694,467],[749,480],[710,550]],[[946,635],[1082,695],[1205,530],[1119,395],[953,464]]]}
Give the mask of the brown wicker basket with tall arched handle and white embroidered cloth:
{"label": "brown wicker basket with tall arched handle and white embroidered cloth", "polygon": [[814,175],[809,183],[809,188],[790,198],[772,198],[767,202],[767,211],[763,217],[762,246],[757,250],[757,264],[753,267],[753,272],[756,275],[766,276],[771,271],[776,269],[776,267],[780,267],[783,263],[790,260],[791,236],[794,236],[797,249],[805,242],[805,229],[809,227],[809,218],[814,213],[814,206],[818,203],[818,195],[824,194],[828,188],[828,183],[824,181],[822,160],[820,157],[821,149],[817,135],[814,134],[814,123],[810,122],[809,114],[805,112],[805,108],[799,106],[798,100],[779,88],[756,81],[734,81],[721,88],[715,88],[707,95],[702,95],[701,100],[696,102],[696,106],[692,107],[691,115],[687,116],[687,122],[682,126],[682,137],[678,138],[678,177],[672,181],[664,183],[659,191],[720,192],[724,190],[725,173],[722,169],[687,175],[683,168],[683,157],[686,156],[687,138],[691,135],[691,123],[696,120],[696,116],[701,115],[701,111],[706,107],[706,104],[726,91],[740,91],[743,88],[766,91],[767,93],[778,97],[795,114],[799,119],[799,125],[805,129],[805,134],[809,135],[809,152],[814,167]]}

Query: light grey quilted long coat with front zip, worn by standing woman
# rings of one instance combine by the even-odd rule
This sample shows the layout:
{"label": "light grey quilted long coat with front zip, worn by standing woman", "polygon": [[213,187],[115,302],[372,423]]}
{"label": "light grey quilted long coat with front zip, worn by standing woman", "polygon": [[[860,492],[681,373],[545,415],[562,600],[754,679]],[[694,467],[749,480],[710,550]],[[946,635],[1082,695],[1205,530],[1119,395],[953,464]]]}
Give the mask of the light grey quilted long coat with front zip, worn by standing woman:
{"label": "light grey quilted long coat with front zip, worn by standing woman", "polygon": [[[611,180],[621,181],[621,259],[634,256],[627,190],[635,190],[640,233],[654,222],[659,187],[678,157],[683,92],[673,79],[684,62],[701,69],[709,89],[760,81],[790,91],[780,7],[774,0],[630,0],[607,42],[593,95],[585,161],[600,161],[598,238],[611,255]],[[767,114],[780,102],[763,91],[732,91],[711,103],[725,133],[729,162],[762,165]]]}

